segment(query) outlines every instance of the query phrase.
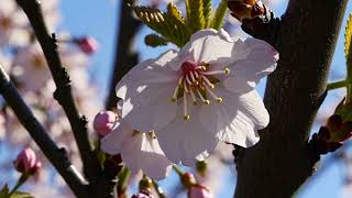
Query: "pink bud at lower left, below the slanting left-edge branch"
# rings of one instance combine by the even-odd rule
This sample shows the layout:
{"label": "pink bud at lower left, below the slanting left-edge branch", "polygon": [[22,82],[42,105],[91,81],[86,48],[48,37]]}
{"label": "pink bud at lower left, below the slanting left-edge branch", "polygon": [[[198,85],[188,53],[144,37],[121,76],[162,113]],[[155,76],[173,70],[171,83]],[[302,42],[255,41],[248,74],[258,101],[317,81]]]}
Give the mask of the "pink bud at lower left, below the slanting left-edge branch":
{"label": "pink bud at lower left, below the slanting left-edge branch", "polygon": [[36,162],[36,156],[30,147],[24,148],[13,162],[16,170],[23,174],[36,174],[42,164]]}

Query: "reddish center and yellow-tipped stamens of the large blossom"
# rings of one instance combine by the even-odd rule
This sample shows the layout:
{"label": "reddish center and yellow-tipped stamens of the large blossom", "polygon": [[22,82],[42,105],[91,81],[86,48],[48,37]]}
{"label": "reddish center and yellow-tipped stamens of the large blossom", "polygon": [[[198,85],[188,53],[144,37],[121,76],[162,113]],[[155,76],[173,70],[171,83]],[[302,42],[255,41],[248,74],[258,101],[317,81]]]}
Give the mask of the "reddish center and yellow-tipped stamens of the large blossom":
{"label": "reddish center and yellow-tipped stamens of the large blossom", "polygon": [[187,98],[191,98],[194,106],[197,106],[198,103],[210,106],[210,98],[219,103],[223,102],[223,99],[218,97],[211,89],[215,89],[215,84],[219,82],[219,80],[213,76],[230,74],[229,68],[224,68],[222,70],[209,70],[209,64],[197,65],[191,62],[185,62],[180,66],[180,72],[182,75],[178,79],[172,101],[176,102],[177,99],[184,99],[185,120],[190,119],[190,116],[188,114]]}

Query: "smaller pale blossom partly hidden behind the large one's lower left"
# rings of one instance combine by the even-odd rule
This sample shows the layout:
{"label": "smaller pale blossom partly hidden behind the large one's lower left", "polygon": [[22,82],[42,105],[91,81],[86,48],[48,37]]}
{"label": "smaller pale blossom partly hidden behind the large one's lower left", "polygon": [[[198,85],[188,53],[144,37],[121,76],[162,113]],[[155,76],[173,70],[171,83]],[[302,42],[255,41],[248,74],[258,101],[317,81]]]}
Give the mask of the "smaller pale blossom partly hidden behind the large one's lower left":
{"label": "smaller pale blossom partly hidden behind the large one's lower left", "polygon": [[163,179],[172,168],[153,132],[142,133],[123,121],[101,140],[101,148],[109,154],[121,154],[133,174],[142,169],[148,177]]}

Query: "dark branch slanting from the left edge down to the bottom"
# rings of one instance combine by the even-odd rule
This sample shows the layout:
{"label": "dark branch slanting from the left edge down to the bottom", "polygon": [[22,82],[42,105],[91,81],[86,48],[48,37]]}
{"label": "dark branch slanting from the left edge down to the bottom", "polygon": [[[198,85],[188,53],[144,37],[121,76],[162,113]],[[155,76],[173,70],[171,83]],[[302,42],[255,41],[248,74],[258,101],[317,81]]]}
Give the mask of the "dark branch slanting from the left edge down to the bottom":
{"label": "dark branch slanting from the left edge down to the bottom", "polygon": [[78,197],[86,197],[85,180],[72,165],[65,148],[59,148],[48,136],[42,124],[25,105],[16,88],[10,82],[9,76],[0,66],[0,94],[13,110],[22,125],[29,131],[35,143],[54,165],[57,172]]}

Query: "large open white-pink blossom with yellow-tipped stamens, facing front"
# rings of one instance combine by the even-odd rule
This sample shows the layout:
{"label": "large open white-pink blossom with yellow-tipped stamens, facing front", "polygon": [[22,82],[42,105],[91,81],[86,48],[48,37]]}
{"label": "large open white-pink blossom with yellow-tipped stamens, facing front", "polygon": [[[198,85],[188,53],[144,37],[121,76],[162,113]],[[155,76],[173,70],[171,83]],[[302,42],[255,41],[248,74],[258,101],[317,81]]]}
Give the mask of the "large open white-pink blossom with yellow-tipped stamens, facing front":
{"label": "large open white-pink blossom with yellow-tipped stamens, facing front", "polygon": [[219,141],[243,147],[258,141],[270,116],[254,90],[274,72],[278,53],[267,43],[234,41],[223,30],[195,33],[180,52],[145,61],[117,85],[122,119],[155,130],[173,162],[194,165]]}

